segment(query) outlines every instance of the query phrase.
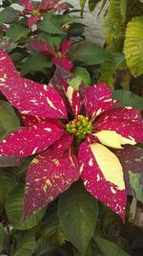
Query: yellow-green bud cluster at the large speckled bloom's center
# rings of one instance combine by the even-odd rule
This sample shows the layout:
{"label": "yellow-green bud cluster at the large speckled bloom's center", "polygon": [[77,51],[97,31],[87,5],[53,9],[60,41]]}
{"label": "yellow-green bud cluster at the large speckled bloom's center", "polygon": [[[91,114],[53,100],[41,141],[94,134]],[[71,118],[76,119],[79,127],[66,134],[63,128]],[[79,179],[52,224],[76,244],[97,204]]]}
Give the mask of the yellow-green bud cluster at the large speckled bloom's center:
{"label": "yellow-green bud cluster at the large speckled bloom's center", "polygon": [[92,132],[92,123],[89,121],[89,117],[78,115],[76,119],[66,125],[66,129],[79,139],[83,139]]}

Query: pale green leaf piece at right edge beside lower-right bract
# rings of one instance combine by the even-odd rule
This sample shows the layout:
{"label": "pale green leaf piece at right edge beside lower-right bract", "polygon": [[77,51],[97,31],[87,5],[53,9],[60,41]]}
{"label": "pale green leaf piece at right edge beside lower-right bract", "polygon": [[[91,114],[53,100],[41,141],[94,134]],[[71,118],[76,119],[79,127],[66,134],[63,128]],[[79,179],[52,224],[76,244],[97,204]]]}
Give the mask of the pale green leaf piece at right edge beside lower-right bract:
{"label": "pale green leaf piece at right edge beside lower-right bract", "polygon": [[133,188],[135,198],[143,203],[143,184],[142,184],[142,175],[140,174],[130,174],[130,183]]}

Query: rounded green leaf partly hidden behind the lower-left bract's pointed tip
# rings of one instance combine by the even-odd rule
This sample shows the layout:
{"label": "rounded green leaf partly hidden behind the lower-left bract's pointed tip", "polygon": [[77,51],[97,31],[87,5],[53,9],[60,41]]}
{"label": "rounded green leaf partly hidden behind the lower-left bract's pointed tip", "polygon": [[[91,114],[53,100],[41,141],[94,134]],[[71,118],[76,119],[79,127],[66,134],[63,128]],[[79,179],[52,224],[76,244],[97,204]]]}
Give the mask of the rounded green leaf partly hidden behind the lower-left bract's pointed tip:
{"label": "rounded green leaf partly hidden behind the lower-left bract's pointed tip", "polygon": [[24,184],[16,186],[6,200],[6,212],[11,225],[20,230],[36,226],[45,214],[45,209],[36,212],[28,221],[23,221]]}

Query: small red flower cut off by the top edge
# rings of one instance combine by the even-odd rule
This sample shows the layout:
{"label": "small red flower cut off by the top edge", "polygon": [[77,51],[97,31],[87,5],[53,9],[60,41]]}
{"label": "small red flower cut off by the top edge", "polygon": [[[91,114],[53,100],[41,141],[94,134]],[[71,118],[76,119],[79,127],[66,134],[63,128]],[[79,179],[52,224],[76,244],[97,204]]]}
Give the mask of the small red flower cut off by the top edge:
{"label": "small red flower cut off by the top edge", "polygon": [[28,16],[28,26],[30,28],[40,21],[43,12],[51,10],[63,11],[70,8],[70,5],[68,4],[59,4],[59,0],[42,0],[42,3],[38,5],[34,5],[28,0],[20,0],[19,5],[25,8],[23,13]]}

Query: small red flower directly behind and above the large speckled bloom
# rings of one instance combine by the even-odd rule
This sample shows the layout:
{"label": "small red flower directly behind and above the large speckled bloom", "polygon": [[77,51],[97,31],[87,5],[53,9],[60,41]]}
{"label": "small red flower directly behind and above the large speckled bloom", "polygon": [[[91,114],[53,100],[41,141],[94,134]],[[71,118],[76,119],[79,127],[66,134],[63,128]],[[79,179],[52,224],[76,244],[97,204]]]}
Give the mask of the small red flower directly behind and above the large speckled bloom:
{"label": "small red flower directly behind and above the large speckled bloom", "polygon": [[56,47],[54,48],[54,50],[52,50],[48,42],[44,40],[34,39],[28,45],[28,48],[33,51],[38,51],[44,55],[51,56],[51,60],[55,65],[59,65],[62,68],[70,71],[73,67],[72,61],[68,56],[68,52],[71,46],[72,39],[68,39],[61,43],[60,50]]}

